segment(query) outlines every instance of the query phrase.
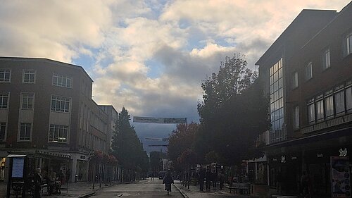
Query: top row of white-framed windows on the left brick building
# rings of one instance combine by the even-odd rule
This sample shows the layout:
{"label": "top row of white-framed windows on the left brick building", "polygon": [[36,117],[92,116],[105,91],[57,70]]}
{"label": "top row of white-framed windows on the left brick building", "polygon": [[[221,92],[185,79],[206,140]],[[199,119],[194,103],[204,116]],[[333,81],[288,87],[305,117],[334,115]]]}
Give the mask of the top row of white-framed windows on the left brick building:
{"label": "top row of white-framed windows on the left brick building", "polygon": [[[35,83],[36,71],[23,70],[23,83]],[[11,82],[11,69],[0,68],[0,82]],[[72,88],[72,78],[67,75],[53,73],[52,85]]]}

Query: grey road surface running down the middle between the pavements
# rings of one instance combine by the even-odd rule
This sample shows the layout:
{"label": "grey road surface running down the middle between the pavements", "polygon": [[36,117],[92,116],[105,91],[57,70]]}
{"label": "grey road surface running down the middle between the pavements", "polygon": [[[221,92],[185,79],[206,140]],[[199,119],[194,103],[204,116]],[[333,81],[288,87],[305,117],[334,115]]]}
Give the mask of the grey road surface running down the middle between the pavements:
{"label": "grey road surface running down the middle between the pavements", "polygon": [[131,184],[121,184],[99,190],[92,197],[180,197],[182,194],[172,186],[170,195],[164,190],[162,180],[142,180]]}

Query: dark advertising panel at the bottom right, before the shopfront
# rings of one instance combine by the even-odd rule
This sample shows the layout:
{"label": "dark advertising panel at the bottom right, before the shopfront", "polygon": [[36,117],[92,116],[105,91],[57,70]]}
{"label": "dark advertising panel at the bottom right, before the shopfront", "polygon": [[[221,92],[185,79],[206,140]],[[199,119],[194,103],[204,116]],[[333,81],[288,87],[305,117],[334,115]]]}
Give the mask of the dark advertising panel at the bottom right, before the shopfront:
{"label": "dark advertising panel at the bottom right, before the shopfront", "polygon": [[351,182],[349,158],[340,156],[330,157],[331,166],[331,186],[332,197],[346,198],[351,197]]}

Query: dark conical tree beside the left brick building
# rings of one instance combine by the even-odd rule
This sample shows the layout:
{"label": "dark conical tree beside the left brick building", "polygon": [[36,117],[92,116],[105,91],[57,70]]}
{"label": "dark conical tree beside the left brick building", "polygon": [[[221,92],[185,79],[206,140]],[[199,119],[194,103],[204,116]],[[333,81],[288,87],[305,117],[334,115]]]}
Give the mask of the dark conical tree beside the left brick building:
{"label": "dark conical tree beside the left brick building", "polygon": [[148,155],[144,151],[143,144],[137,137],[134,127],[130,124],[130,115],[127,109],[122,108],[122,111],[118,113],[115,127],[116,133],[113,134],[112,148],[119,163],[132,171],[148,171]]}

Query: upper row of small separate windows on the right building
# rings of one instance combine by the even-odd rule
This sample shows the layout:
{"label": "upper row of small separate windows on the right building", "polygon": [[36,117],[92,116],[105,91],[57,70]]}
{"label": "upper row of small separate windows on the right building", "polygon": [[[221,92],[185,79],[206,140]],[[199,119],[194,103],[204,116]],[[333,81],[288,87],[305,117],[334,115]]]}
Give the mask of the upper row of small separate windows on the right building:
{"label": "upper row of small separate windows on the right building", "polygon": [[[344,55],[348,56],[349,54],[352,54],[352,33],[350,35],[346,36],[346,39],[344,41]],[[331,66],[330,64],[330,49],[327,48],[322,52],[321,56],[322,60],[322,69],[326,70]],[[313,63],[310,61],[307,63],[306,68],[306,80],[310,80],[313,78]],[[294,72],[291,76],[291,88],[295,89],[298,87],[298,72]]]}

